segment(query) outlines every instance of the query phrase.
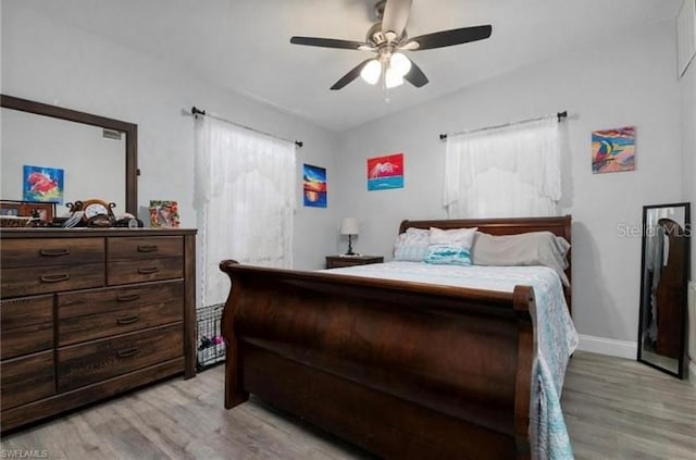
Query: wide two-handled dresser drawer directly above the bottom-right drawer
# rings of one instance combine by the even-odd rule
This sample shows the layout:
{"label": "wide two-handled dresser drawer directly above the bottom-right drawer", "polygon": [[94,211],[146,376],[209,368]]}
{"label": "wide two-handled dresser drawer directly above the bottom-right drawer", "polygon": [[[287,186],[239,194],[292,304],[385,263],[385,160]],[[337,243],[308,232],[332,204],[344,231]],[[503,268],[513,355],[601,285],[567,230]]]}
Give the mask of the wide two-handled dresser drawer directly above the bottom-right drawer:
{"label": "wide two-handled dresser drawer directly above the bottom-right drawer", "polygon": [[59,346],[183,320],[183,282],[152,283],[58,296]]}

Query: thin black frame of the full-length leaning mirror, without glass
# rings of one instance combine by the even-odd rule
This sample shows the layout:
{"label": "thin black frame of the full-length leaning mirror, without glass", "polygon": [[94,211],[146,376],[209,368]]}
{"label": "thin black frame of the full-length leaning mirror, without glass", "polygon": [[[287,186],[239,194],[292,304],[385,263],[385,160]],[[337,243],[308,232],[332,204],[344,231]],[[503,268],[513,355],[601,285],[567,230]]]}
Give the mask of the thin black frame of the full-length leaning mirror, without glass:
{"label": "thin black frame of the full-length leaning mirror, without glass", "polygon": [[[644,318],[644,310],[646,308],[645,306],[645,296],[643,295],[645,291],[645,245],[647,243],[647,238],[646,238],[646,222],[647,222],[647,215],[648,215],[648,210],[651,209],[659,209],[659,208],[684,208],[684,237],[686,238],[685,240],[685,245],[684,245],[684,273],[682,274],[683,277],[683,285],[684,285],[684,304],[682,306],[682,324],[681,324],[681,328],[680,328],[680,334],[681,334],[681,343],[680,343],[680,353],[679,353],[679,364],[678,364],[678,370],[676,372],[672,372],[669,369],[666,369],[663,366],[660,366],[659,364],[656,364],[651,361],[646,361],[645,358],[643,357],[643,321],[645,320]],[[684,378],[686,375],[686,363],[688,362],[686,359],[686,313],[687,313],[687,309],[688,309],[688,279],[689,279],[689,272],[691,272],[691,225],[692,225],[692,221],[691,221],[691,203],[689,202],[680,202],[680,203],[666,203],[666,204],[650,204],[650,206],[644,206],[643,207],[643,223],[642,223],[642,233],[643,233],[643,237],[642,237],[642,246],[641,246],[641,311],[639,311],[639,315],[638,315],[638,340],[637,340],[637,361],[642,362],[644,364],[649,365],[650,368],[657,369],[658,371],[664,372],[666,374],[669,375],[673,375],[678,378]]]}

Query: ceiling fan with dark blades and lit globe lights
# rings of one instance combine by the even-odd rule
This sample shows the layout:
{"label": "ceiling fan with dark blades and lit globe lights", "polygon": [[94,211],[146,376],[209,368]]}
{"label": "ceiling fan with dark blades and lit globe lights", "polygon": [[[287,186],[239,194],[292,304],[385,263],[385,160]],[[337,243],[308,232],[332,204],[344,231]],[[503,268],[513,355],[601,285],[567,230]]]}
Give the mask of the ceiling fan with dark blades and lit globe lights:
{"label": "ceiling fan with dark blades and lit globe lights", "polygon": [[361,76],[374,85],[382,78],[385,88],[394,88],[406,79],[420,88],[427,84],[427,77],[401,51],[421,51],[433,48],[450,47],[490,37],[493,27],[482,25],[442,30],[409,38],[406,24],[413,0],[382,0],[375,5],[380,22],[368,30],[365,41],[350,41],[335,38],[291,37],[290,43],[322,48],[373,51],[377,55],[362,61],[344,75],[331,89],[340,89]]}

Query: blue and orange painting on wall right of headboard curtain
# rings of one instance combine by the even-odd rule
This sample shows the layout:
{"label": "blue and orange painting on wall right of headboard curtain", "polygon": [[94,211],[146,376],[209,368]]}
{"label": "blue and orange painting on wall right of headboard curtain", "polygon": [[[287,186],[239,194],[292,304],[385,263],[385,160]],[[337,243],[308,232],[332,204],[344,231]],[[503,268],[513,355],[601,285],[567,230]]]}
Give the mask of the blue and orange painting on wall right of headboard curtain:
{"label": "blue and orange painting on wall right of headboard curtain", "polygon": [[635,170],[635,126],[595,130],[592,134],[592,172]]}

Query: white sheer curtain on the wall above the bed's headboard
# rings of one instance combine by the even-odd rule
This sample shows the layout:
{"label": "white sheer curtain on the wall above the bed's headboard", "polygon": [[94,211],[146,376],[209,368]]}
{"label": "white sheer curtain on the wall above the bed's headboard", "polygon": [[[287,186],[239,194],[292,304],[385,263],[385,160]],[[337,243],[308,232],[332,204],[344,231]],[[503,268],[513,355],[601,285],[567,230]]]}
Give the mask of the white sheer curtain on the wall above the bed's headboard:
{"label": "white sheer curtain on the wall above the bed's headboard", "polygon": [[561,140],[556,117],[449,136],[447,215],[548,216],[561,197]]}

